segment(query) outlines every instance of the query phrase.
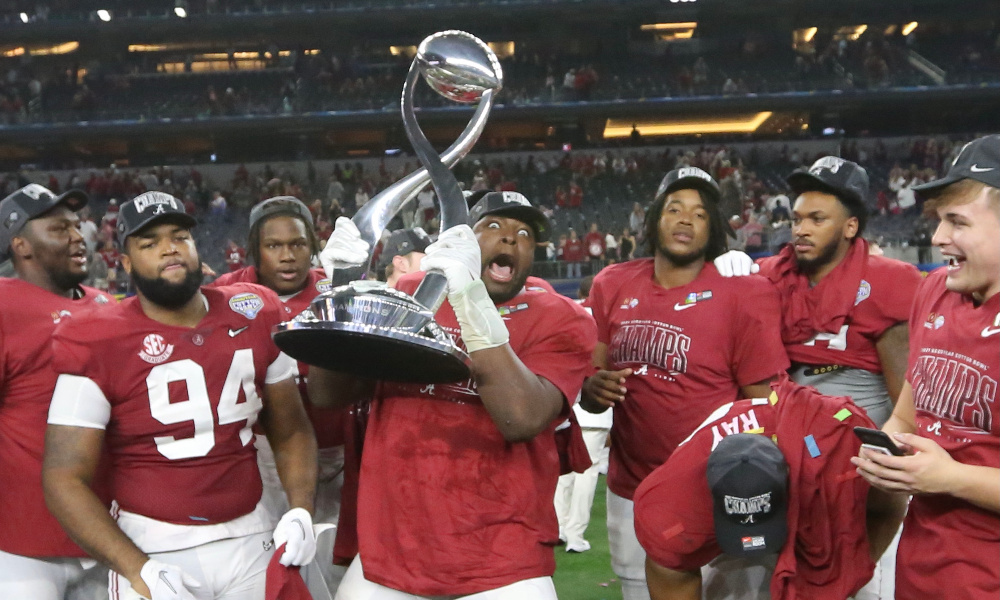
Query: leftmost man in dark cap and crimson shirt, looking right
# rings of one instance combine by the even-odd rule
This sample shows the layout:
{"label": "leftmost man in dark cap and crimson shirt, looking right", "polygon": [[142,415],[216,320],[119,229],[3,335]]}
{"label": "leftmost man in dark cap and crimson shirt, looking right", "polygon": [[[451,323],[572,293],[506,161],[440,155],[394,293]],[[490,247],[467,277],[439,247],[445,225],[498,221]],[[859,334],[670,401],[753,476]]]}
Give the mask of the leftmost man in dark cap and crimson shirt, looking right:
{"label": "leftmost man in dark cap and crimson shirt, looking right", "polygon": [[58,375],[52,332],[114,302],[80,285],[87,250],[77,211],[86,204],[79,190],[57,196],[35,184],[0,201],[0,260],[10,258],[15,274],[0,279],[0,598],[96,598],[106,588],[107,571],[83,568],[86,554],[42,496],[45,421]]}

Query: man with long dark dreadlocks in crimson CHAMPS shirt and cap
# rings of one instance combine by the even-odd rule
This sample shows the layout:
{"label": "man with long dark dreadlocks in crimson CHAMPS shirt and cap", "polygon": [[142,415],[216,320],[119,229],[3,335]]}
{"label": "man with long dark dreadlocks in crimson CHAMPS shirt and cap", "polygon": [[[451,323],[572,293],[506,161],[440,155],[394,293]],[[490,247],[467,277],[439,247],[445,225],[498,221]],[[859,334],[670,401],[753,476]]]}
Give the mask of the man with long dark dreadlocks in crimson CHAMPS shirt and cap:
{"label": "man with long dark dreadlocks in crimson CHAMPS shirt and cap", "polygon": [[757,276],[723,278],[711,262],[726,251],[719,199],[705,171],[667,173],[646,212],[653,258],[611,265],[591,288],[597,372],[581,406],[615,411],[608,537],[626,600],[649,598],[633,523],[638,485],[714,409],[767,396],[788,367],[772,286]]}

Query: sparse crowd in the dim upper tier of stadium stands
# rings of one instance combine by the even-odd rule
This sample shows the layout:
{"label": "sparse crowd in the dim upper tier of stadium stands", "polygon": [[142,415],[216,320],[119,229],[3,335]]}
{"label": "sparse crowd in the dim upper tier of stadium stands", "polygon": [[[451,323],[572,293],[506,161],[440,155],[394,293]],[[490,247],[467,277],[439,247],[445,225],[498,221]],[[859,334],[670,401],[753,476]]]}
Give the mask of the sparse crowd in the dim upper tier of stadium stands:
{"label": "sparse crowd in the dim upper tier of stadium stands", "polygon": [[[877,90],[932,85],[908,62],[914,48],[928,48],[949,83],[1000,82],[1000,34],[980,38],[884,36],[865,33],[807,46],[801,52],[752,36],[738,48],[721,45],[698,55],[602,53],[547,54],[526,50],[502,61],[505,104],[540,104],[766,94],[815,90]],[[299,114],[338,110],[395,110],[409,58],[386,48],[347,51],[305,49],[279,55],[275,43],[240,49],[260,57],[239,70],[164,73],[163,61],[183,63],[191,54],[165,58],[145,53],[74,62],[73,55],[48,60],[16,57],[0,62],[3,123],[108,119],[207,118]],[[958,58],[956,58],[958,57]],[[448,102],[420,86],[419,106]]]}

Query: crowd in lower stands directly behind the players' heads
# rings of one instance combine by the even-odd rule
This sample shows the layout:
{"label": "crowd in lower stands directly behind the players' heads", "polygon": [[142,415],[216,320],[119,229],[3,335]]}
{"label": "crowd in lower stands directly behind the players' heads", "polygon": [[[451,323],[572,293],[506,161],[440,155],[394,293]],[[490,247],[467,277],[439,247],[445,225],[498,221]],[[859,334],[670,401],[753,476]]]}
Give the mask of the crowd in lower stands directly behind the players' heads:
{"label": "crowd in lower stands directly behind the players' heads", "polygon": [[[868,237],[883,245],[917,245],[921,262],[930,262],[929,223],[920,217],[912,187],[934,179],[962,147],[965,139],[918,138],[887,144],[881,140],[846,141],[844,158],[865,166],[872,180],[873,214]],[[722,190],[722,209],[737,239],[731,246],[754,255],[775,252],[791,238],[791,200],[784,177],[817,158],[792,146],[744,148],[702,146],[696,149],[633,148],[593,152],[496,154],[470,157],[454,172],[469,190],[519,191],[549,216],[554,235],[536,252],[536,270],[548,278],[579,278],[610,262],[647,252],[642,237],[644,207],[663,174],[681,166],[697,166],[715,177]],[[210,180],[195,167],[77,171],[59,177],[17,173],[3,179],[4,192],[29,181],[55,192],[81,188],[91,197],[86,209],[88,245],[96,252],[93,283],[124,291],[118,271],[114,225],[120,204],[144,191],[158,190],[183,201],[202,223],[196,232],[203,255],[215,271],[241,267],[250,208],[273,196],[302,199],[313,212],[325,240],[339,216],[352,216],[381,190],[417,167],[415,160],[331,163],[298,172],[263,166],[254,171],[238,165]],[[324,170],[325,169],[325,170]],[[218,171],[217,171],[218,173]],[[411,200],[389,229],[420,226],[437,229],[430,187]]]}

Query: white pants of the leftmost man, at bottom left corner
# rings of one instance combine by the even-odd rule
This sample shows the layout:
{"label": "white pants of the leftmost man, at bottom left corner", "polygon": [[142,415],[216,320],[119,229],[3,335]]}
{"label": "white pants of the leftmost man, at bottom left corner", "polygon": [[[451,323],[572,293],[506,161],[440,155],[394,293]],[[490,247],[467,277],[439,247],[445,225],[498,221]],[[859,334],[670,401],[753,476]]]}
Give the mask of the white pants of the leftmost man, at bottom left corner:
{"label": "white pants of the leftmost man, at bottom left corner", "polygon": [[[28,524],[30,526],[30,524]],[[0,550],[3,600],[97,600],[107,598],[108,570],[90,559],[31,558]]]}

